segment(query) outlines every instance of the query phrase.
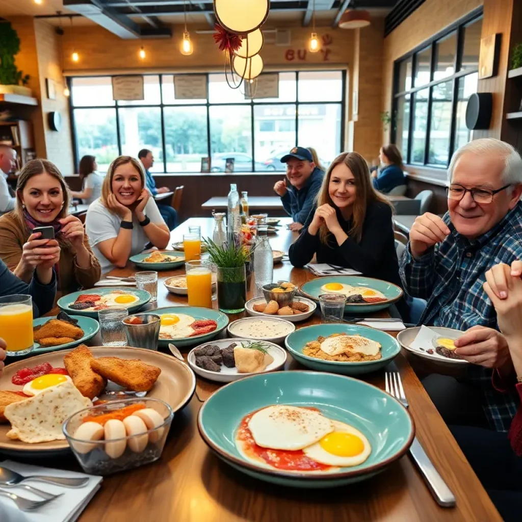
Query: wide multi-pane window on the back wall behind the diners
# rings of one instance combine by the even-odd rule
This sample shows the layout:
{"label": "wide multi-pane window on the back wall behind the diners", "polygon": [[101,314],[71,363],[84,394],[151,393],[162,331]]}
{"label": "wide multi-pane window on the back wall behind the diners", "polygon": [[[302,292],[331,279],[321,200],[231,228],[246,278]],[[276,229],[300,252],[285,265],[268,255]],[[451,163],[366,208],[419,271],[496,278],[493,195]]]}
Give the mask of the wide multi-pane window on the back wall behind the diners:
{"label": "wide multi-pane window on the back wall behind the diners", "polygon": [[[283,171],[296,145],[314,147],[323,165],[341,151],[346,74],[341,70],[279,73],[279,97],[249,100],[223,74],[207,74],[208,97],[176,99],[174,75],[146,75],[145,100],[115,102],[111,78],[72,78],[76,161],[96,156],[106,171],[119,154],[152,150],[151,171],[199,172],[201,158],[222,172]],[[463,88],[464,92],[467,92]]]}

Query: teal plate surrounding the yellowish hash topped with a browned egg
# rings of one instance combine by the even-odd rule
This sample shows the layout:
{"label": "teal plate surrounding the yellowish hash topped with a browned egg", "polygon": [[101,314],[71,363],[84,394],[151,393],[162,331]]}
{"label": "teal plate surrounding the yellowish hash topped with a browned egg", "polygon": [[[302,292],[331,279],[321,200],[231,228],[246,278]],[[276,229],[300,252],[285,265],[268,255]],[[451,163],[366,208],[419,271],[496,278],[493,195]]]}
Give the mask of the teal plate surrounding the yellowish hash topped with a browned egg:
{"label": "teal plate surrounding the yellowish hash topped with a browned egg", "polygon": [[[303,353],[303,348],[307,342],[316,341],[317,337],[328,337],[332,334],[362,335],[367,339],[377,341],[381,345],[381,359],[367,362],[338,362],[316,359]],[[400,352],[400,345],[397,339],[384,331],[362,325],[321,324],[305,326],[292,332],[284,341],[292,357],[301,364],[312,370],[321,372],[342,373],[343,375],[360,375],[362,373],[375,372],[386,366],[397,357]]]}

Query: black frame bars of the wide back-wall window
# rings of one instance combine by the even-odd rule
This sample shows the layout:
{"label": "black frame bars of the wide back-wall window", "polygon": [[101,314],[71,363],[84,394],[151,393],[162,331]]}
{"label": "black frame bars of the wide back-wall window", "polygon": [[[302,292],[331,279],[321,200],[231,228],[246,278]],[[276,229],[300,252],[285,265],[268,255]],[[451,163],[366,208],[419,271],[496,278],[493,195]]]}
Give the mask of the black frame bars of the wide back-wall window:
{"label": "black frame bars of the wide back-wall window", "polygon": [[[300,73],[309,73],[309,72],[317,72],[317,73],[323,73],[323,72],[336,72],[341,73],[341,99],[338,101],[299,101],[299,75]],[[340,147],[339,149],[343,150],[343,144],[345,143],[345,133],[346,133],[346,80],[347,80],[347,70],[343,68],[332,68],[332,69],[303,69],[303,70],[290,70],[290,69],[284,69],[278,71],[278,73],[295,73],[295,101],[289,102],[289,101],[281,101],[281,102],[274,102],[274,101],[263,101],[263,100],[249,100],[248,102],[241,103],[239,105],[248,107],[250,106],[250,112],[251,112],[251,150],[252,150],[252,171],[251,173],[253,175],[256,174],[266,174],[266,171],[255,170],[255,164],[258,163],[256,159],[255,154],[255,120],[254,120],[254,108],[256,106],[263,106],[263,105],[294,105],[295,106],[295,144],[294,146],[298,146],[299,144],[299,106],[300,105],[340,105],[341,109],[341,121],[340,121]],[[223,102],[223,103],[214,103],[209,101],[209,88],[210,88],[210,76],[216,75],[219,73],[216,72],[209,72],[204,73],[207,77],[207,100],[205,103],[165,103],[163,100],[163,76],[176,76],[176,75],[198,75],[200,76],[201,73],[176,73],[176,72],[168,72],[168,73],[146,73],[143,74],[143,76],[157,76],[158,82],[159,82],[159,89],[160,89],[160,103],[155,104],[132,104],[132,105],[121,105],[119,102],[115,101],[114,105],[81,105],[81,106],[75,106],[73,105],[73,96],[69,96],[68,105],[69,105],[69,119],[71,122],[70,125],[70,132],[71,132],[71,139],[73,141],[73,159],[76,170],[78,169],[78,163],[79,163],[79,147],[78,147],[78,141],[76,137],[76,121],[74,117],[74,111],[75,109],[111,109],[115,111],[115,117],[116,117],[116,138],[117,138],[117,147],[118,147],[118,154],[121,155],[122,153],[122,137],[121,137],[121,129],[120,129],[120,109],[128,109],[128,108],[134,108],[134,109],[143,109],[143,108],[160,108],[160,124],[161,124],[161,147],[162,147],[162,163],[163,163],[163,170],[160,172],[155,172],[155,175],[170,175],[170,174],[176,174],[176,175],[191,175],[191,174],[197,174],[197,172],[169,172],[167,171],[167,154],[165,150],[165,118],[164,118],[164,108],[165,107],[182,107],[184,109],[190,109],[192,107],[205,107],[207,112],[207,155],[212,156],[211,154],[211,135],[210,135],[210,107],[212,106],[230,106],[230,105],[238,105],[237,102]],[[112,75],[106,75],[106,74],[96,74],[96,75],[89,75],[89,76],[70,76],[67,77],[67,87],[69,88],[69,92],[71,94],[73,93],[73,80],[75,78],[96,78],[96,77],[111,77]],[[119,75],[121,76],[121,75]],[[132,75],[129,75],[132,76]],[[137,151],[136,151],[137,153]],[[263,158],[265,159],[265,158]],[[260,160],[262,161],[262,160]],[[276,171],[279,173],[279,171]],[[248,174],[248,172],[246,172]]]}

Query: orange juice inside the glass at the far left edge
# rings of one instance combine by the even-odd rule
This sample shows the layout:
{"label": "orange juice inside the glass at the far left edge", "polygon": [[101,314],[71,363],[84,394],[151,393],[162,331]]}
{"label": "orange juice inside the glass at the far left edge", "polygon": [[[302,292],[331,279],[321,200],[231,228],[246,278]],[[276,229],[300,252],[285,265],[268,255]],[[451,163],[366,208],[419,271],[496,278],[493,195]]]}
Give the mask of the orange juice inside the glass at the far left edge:
{"label": "orange juice inside the glass at the far left edge", "polygon": [[8,352],[32,349],[31,304],[14,303],[0,306],[0,337],[7,343]]}

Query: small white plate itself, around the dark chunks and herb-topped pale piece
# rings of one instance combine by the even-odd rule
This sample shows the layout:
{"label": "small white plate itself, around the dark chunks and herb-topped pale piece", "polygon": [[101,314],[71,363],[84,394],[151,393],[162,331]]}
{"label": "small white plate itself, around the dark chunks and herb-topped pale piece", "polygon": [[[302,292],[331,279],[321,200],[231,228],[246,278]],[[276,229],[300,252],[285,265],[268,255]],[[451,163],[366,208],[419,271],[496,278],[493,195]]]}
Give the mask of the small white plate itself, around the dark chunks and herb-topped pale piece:
{"label": "small white plate itself, around the dark chunks and herb-topped pale piece", "polygon": [[[235,343],[241,343],[241,342],[252,342],[251,339],[219,339],[219,340],[213,340],[210,342],[204,342],[202,345],[196,346],[196,348],[199,348],[200,346],[207,346],[207,345],[215,345],[219,348],[227,348],[227,346],[230,346],[233,342]],[[280,348],[279,346],[275,345],[273,342],[265,341],[267,346],[268,353],[274,358],[274,361],[272,361],[271,364],[269,364],[266,369],[263,372],[259,373],[267,373],[267,372],[274,372],[276,370],[280,370],[284,363],[287,360],[287,352]],[[231,383],[232,381],[237,381],[238,379],[242,379],[243,377],[248,377],[250,375],[257,375],[256,373],[238,373],[238,369],[236,367],[234,368],[228,368],[224,364],[221,365],[221,372],[210,372],[208,370],[204,370],[203,368],[200,368],[196,365],[196,356],[194,355],[194,348],[191,350],[187,355],[187,361],[188,365],[194,370],[194,373],[199,375],[200,377],[205,377],[206,379],[209,379],[209,381],[216,381],[218,383]]]}

